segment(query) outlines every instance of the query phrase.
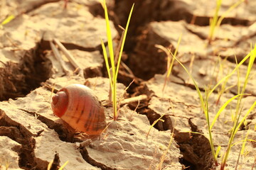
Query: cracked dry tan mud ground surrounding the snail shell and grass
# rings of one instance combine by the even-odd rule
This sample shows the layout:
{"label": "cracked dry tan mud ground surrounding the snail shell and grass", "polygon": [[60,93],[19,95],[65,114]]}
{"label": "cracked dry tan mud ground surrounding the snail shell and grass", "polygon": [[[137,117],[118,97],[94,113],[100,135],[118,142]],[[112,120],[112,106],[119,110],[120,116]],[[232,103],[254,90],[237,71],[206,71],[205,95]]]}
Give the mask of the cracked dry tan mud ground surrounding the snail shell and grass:
{"label": "cracked dry tan mud ground surrounding the snail shell and grass", "polygon": [[[147,99],[122,106],[119,120],[113,121],[112,107],[106,105],[110,84],[100,45],[100,37],[107,43],[101,4],[73,0],[64,9],[64,1],[60,0],[1,1],[0,21],[10,14],[15,18],[0,29],[0,169],[8,165],[9,169],[47,169],[54,158],[51,169],[58,169],[66,161],[64,169],[220,169],[213,164],[206,119],[193,82],[175,63],[163,93],[166,53],[155,45],[175,50],[182,33],[177,57],[204,91],[205,86],[216,84],[235,68],[234,54],[239,62],[250,52],[250,43],[255,44],[256,1],[247,0],[228,13],[210,45],[209,19],[215,1],[107,1],[114,45],[121,35],[118,25],[125,26],[133,2],[117,94],[124,94],[124,98],[146,94]],[[233,3],[223,1],[220,14]],[[75,74],[75,68],[63,55],[68,69],[68,73],[64,72],[50,50],[53,38],[75,57],[84,77]],[[254,65],[245,91],[252,95],[242,100],[242,115],[256,100],[255,68]],[[243,64],[239,69],[241,84],[246,72],[247,64]],[[226,86],[236,85],[237,81],[238,76],[233,74]],[[56,93],[56,89],[68,84],[85,84],[102,101],[109,126],[100,137],[87,139],[53,115],[53,86]],[[214,91],[209,98],[210,120],[235,94],[237,86],[218,101],[218,91]],[[228,145],[233,125],[230,110],[234,109],[235,101],[212,129],[215,147],[221,146],[218,162]],[[158,121],[149,132],[161,115],[164,121]],[[248,139],[256,140],[255,125],[254,109],[247,117],[247,125],[235,136],[236,145],[225,169],[235,169],[236,164],[238,169],[253,168],[255,142],[246,143],[245,154],[240,155],[240,149],[247,132]],[[170,139],[172,130],[174,136]],[[166,152],[170,140],[171,147]],[[160,168],[164,152],[166,157]]]}

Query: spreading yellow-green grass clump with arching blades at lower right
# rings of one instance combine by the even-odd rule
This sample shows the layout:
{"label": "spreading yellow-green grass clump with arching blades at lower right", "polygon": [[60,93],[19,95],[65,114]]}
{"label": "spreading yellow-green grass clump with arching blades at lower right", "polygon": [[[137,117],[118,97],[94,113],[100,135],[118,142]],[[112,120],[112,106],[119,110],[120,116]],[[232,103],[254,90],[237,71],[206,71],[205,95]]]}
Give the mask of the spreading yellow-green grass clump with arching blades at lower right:
{"label": "spreading yellow-green grass clump with arching blades at lower right", "polygon": [[[171,50],[169,50],[169,52],[171,53]],[[172,55],[172,53],[171,53],[171,55]],[[249,109],[249,111],[247,111],[247,113],[242,118],[242,120],[239,121],[239,118],[241,116],[240,103],[241,103],[242,97],[245,96],[245,95],[248,95],[248,94],[245,94],[245,87],[247,85],[247,82],[248,82],[248,79],[249,79],[249,76],[250,76],[250,72],[252,70],[252,65],[253,65],[253,63],[255,61],[255,55],[256,55],[256,45],[255,45],[254,49],[251,50],[251,52],[247,56],[245,56],[245,58],[239,64],[236,65],[235,69],[233,69],[233,72],[231,72],[226,77],[224,77],[223,79],[218,81],[218,83],[213,87],[213,89],[211,89],[211,90],[207,90],[206,89],[206,96],[205,96],[205,98],[203,98],[203,95],[202,95],[202,93],[201,93],[201,91],[200,91],[200,89],[199,89],[199,87],[198,87],[198,85],[196,83],[196,80],[193,79],[191,73],[188,72],[188,69],[186,69],[186,67],[174,55],[172,55],[174,57],[174,59],[179,64],[181,64],[181,67],[183,67],[183,69],[185,69],[185,71],[188,74],[188,76],[192,79],[193,84],[196,87],[196,91],[198,92],[198,96],[199,96],[200,102],[201,102],[201,108],[203,109],[203,112],[205,113],[205,116],[206,116],[206,122],[207,122],[207,125],[208,125],[208,135],[209,135],[208,140],[210,142],[210,149],[211,149],[211,152],[213,154],[213,159],[214,159],[214,162],[215,162],[216,166],[218,166],[218,160],[217,160],[218,154],[216,154],[216,152],[219,152],[220,148],[218,148],[217,151],[215,151],[215,149],[214,149],[213,137],[212,137],[211,129],[213,128],[213,125],[215,124],[215,121],[218,119],[218,116],[220,115],[220,113],[225,109],[226,106],[228,106],[228,103],[233,101],[235,98],[238,98],[238,103],[237,103],[237,106],[236,106],[235,123],[233,125],[233,131],[231,133],[230,140],[228,142],[228,149],[225,152],[225,155],[224,155],[224,157],[222,159],[222,162],[221,162],[220,170],[224,170],[224,168],[225,168],[225,163],[226,163],[226,161],[228,159],[228,154],[229,154],[230,149],[232,147],[232,143],[233,143],[233,139],[235,137],[235,134],[238,132],[240,126],[245,122],[245,119],[247,118],[247,115],[249,115],[249,113],[252,111],[252,109],[255,108],[255,106],[256,106],[256,101],[255,101],[255,103],[252,104],[251,108]],[[210,124],[210,118],[209,118],[209,113],[208,113],[208,98],[209,98],[210,94],[212,94],[213,91],[215,91],[215,89],[222,82],[227,81],[235,73],[235,71],[238,70],[240,65],[243,62],[245,62],[245,60],[247,60],[249,57],[250,57],[250,61],[249,61],[248,67],[247,67],[247,74],[245,76],[245,82],[244,82],[244,86],[242,87],[242,91],[240,91],[240,82],[238,82],[238,86],[239,86],[238,87],[238,95],[233,96],[233,98],[230,98],[228,101],[226,101],[223,104],[223,106],[220,107],[218,113],[215,115],[215,118],[213,119],[213,122]]]}

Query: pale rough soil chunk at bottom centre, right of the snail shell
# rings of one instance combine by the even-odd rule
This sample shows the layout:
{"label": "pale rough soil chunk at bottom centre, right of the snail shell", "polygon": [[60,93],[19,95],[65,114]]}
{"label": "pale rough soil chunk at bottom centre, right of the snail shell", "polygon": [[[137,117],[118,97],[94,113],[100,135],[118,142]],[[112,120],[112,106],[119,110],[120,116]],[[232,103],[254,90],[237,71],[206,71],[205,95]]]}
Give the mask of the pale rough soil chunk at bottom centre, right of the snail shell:
{"label": "pale rough soil chunk at bottom centre, right of the snail shell", "polygon": [[[167,149],[171,132],[153,128],[146,137],[150,128],[146,116],[125,107],[121,109],[119,118],[117,122],[110,122],[101,140],[86,147],[89,157],[112,169],[155,169]],[[181,154],[173,139],[167,150],[162,167],[182,169],[178,162]]]}

